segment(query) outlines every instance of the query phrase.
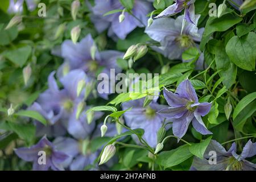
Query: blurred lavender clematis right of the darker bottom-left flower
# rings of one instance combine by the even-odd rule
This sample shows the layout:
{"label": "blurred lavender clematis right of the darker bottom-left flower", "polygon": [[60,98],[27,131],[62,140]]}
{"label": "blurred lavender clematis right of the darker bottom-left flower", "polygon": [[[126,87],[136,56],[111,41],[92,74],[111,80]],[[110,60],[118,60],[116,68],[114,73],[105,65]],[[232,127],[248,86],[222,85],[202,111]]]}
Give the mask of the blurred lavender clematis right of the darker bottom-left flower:
{"label": "blurred lavender clematis right of the darker bottom-left flower", "polygon": [[[72,171],[84,170],[86,166],[91,165],[90,169],[97,169],[94,161],[100,155],[101,150],[92,151],[92,140],[100,138],[100,129],[93,131],[95,123],[88,126],[88,132],[83,136],[84,138],[72,139],[68,137],[57,137],[53,143],[59,151],[69,155],[69,158],[63,162],[64,168]],[[117,134],[114,124],[108,124],[109,130],[106,137],[114,137]],[[89,132],[90,130],[90,132]],[[103,147],[103,146],[102,146]]]}

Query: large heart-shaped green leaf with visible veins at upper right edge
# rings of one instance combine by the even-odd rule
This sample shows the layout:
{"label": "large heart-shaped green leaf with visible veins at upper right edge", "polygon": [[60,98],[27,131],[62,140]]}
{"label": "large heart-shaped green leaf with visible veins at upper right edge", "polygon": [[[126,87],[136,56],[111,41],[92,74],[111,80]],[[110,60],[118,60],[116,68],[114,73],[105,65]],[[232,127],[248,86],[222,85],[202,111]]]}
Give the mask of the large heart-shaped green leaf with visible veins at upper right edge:
{"label": "large heart-shaped green leaf with visible veins at upper right edge", "polygon": [[226,53],[229,59],[242,69],[253,71],[256,59],[256,34],[249,32],[248,35],[234,36],[226,45]]}

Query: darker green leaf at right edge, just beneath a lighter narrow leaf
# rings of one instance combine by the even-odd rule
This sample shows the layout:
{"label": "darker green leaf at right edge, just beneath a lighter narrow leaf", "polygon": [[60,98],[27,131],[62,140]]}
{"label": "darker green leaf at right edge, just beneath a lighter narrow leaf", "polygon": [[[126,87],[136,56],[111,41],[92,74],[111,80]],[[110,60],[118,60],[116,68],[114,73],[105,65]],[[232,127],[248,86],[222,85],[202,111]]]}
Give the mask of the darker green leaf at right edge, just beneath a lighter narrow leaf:
{"label": "darker green leaf at right edge, just beneath a lighter narrow leaf", "polygon": [[243,125],[256,111],[256,100],[248,104],[234,119],[233,126],[237,131],[243,132]]}

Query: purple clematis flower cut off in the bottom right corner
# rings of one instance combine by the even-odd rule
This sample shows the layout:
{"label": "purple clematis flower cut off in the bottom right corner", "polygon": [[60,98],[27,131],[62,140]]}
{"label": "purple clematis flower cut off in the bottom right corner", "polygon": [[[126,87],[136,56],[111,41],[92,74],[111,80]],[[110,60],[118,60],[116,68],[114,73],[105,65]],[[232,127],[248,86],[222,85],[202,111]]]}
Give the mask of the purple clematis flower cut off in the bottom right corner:
{"label": "purple clematis flower cut off in the bottom right corner", "polygon": [[[209,164],[210,151],[217,154],[216,164]],[[254,155],[256,155],[256,143],[252,143],[251,140],[245,144],[240,155],[237,154],[236,143],[226,151],[216,140],[211,140],[204,153],[204,159],[195,157],[192,167],[199,171],[256,171],[256,164],[245,160]]]}

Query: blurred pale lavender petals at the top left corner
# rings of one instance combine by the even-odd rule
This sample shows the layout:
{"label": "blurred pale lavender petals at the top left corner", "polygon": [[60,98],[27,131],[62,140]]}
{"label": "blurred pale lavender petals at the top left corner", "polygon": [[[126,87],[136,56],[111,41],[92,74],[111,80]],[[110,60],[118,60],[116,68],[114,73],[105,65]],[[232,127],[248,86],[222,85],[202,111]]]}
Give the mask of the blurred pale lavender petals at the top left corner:
{"label": "blurred pale lavender petals at the top left corner", "polygon": [[[37,0],[26,0],[27,8],[29,11],[34,11],[36,9],[36,6],[37,6],[36,2],[38,2],[38,1]],[[24,3],[24,0],[17,0],[17,1],[10,0],[8,12],[11,14],[22,13],[23,3]]]}

